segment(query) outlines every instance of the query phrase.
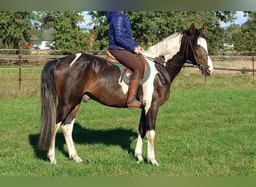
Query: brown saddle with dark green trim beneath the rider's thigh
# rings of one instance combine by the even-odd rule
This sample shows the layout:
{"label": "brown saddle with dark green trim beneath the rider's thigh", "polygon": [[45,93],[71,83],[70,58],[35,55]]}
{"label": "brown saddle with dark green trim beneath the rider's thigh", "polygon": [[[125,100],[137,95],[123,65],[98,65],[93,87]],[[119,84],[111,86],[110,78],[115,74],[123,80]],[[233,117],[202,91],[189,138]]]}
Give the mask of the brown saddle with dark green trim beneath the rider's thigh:
{"label": "brown saddle with dark green trim beneath the rider's thigh", "polygon": [[[132,70],[129,70],[128,67],[125,67],[123,64],[121,64],[118,59],[116,59],[112,54],[111,52],[109,51],[106,51],[106,54],[107,54],[107,57],[106,57],[106,60],[109,61],[110,63],[112,64],[115,64],[116,66],[118,66],[120,69],[124,69],[124,70],[121,70],[121,73],[123,74],[123,79],[124,79],[124,75],[127,77],[127,79],[129,80],[132,76]],[[136,55],[139,63],[141,64],[141,67],[143,68],[143,73],[142,73],[142,77],[141,77],[141,80],[143,79],[147,79],[149,74],[148,73],[148,70],[149,68],[147,69],[147,61],[141,56],[141,55]],[[147,76],[148,74],[148,76]],[[124,81],[126,82],[126,80],[124,79]],[[127,83],[127,82],[126,82]],[[129,83],[129,82],[128,82]],[[143,82],[141,83],[143,84]]]}

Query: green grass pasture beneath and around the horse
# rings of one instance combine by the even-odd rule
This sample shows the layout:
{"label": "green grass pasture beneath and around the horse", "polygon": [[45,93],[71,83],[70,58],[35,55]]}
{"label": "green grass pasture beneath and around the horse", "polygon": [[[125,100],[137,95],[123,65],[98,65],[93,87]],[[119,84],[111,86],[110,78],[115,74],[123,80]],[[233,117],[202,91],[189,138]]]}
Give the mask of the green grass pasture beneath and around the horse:
{"label": "green grass pasture beneath and around the horse", "polygon": [[[5,71],[5,72],[4,72]],[[183,72],[182,72],[183,73]],[[0,71],[10,77],[11,71]],[[24,72],[24,75],[26,72]],[[28,77],[40,77],[29,70]],[[73,130],[81,164],[70,161],[61,131],[58,165],[37,150],[40,82],[0,81],[0,176],[249,176],[256,177],[256,85],[252,76],[177,76],[156,119],[159,167],[137,164],[134,149],[140,110],[82,103]]]}

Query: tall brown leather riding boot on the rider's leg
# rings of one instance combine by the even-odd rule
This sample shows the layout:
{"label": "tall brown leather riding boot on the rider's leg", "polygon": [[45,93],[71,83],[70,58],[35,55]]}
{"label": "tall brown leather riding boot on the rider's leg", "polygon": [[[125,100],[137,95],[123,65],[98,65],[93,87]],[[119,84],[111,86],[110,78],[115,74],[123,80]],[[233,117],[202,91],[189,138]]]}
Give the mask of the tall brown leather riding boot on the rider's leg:
{"label": "tall brown leather riding boot on the rider's leg", "polygon": [[129,91],[128,91],[128,97],[127,97],[128,108],[141,107],[141,102],[135,99],[135,95],[138,91],[138,86],[140,81],[141,81],[141,76],[138,73],[132,73],[131,80],[129,81]]}

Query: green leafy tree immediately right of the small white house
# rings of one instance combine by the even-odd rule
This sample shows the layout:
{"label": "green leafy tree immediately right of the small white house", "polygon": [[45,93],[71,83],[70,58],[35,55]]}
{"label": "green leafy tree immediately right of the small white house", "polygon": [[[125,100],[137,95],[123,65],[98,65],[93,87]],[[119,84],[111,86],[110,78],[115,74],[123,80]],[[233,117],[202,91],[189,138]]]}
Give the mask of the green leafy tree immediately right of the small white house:
{"label": "green leafy tree immediately right of the small white house", "polygon": [[75,11],[48,11],[40,13],[43,28],[54,28],[52,49],[64,50],[72,54],[77,50],[88,49],[90,39],[85,29],[79,28],[83,16]]}

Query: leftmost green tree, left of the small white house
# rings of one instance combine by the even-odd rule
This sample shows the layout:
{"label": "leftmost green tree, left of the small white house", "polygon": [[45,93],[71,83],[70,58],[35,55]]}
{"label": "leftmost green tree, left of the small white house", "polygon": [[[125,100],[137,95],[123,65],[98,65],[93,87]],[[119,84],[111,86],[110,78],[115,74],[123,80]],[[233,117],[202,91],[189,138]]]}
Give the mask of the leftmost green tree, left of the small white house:
{"label": "leftmost green tree, left of the small white house", "polygon": [[1,11],[0,17],[1,48],[22,49],[25,43],[31,42],[31,36],[37,33],[34,12]]}

